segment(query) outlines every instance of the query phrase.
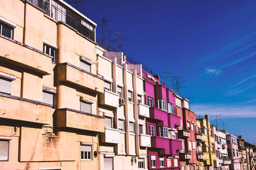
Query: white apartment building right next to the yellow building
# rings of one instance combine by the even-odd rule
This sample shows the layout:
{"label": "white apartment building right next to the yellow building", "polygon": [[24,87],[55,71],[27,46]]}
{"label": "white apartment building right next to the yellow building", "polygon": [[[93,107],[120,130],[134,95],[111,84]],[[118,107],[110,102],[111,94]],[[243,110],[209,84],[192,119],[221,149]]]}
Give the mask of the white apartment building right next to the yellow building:
{"label": "white apartment building right next to the yellow building", "polygon": [[227,138],[226,133],[219,131],[218,127],[211,126],[211,130],[214,133],[215,138],[215,151],[216,151],[216,161],[214,166],[216,170],[228,170],[231,160],[228,158],[227,151]]}

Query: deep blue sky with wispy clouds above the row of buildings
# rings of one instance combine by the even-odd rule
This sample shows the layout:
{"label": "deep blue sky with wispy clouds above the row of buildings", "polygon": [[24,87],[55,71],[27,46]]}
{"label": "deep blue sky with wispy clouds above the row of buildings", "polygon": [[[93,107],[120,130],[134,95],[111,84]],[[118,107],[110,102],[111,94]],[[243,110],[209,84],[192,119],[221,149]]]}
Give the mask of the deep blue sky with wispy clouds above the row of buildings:
{"label": "deep blue sky with wispy clouds above the row of buildings", "polygon": [[256,144],[255,9],[253,0],[87,0],[78,5],[98,24],[98,38],[105,17],[110,20],[106,34],[111,29],[122,32],[118,38],[131,36],[123,42],[131,43],[123,47],[129,57],[156,73],[172,71],[170,76],[186,80],[181,95],[195,97],[191,110],[221,115],[228,132]]}

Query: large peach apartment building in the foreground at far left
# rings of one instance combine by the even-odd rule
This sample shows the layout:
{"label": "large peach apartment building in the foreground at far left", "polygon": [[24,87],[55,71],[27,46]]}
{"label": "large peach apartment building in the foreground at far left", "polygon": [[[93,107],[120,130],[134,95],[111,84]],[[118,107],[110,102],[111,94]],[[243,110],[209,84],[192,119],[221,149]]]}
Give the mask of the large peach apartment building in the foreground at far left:
{"label": "large peach apartment building in the foreground at far left", "polygon": [[1,1],[1,169],[99,169],[96,24],[64,1]]}

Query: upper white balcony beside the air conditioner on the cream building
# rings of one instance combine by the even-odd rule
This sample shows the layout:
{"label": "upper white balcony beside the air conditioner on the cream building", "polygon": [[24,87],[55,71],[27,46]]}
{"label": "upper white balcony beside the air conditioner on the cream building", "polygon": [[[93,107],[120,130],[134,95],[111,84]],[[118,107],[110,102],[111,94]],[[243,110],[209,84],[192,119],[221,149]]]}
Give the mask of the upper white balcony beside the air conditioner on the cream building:
{"label": "upper white balcony beside the air conditioner on the cream building", "polygon": [[114,92],[104,90],[104,94],[100,94],[99,104],[119,108],[119,96]]}

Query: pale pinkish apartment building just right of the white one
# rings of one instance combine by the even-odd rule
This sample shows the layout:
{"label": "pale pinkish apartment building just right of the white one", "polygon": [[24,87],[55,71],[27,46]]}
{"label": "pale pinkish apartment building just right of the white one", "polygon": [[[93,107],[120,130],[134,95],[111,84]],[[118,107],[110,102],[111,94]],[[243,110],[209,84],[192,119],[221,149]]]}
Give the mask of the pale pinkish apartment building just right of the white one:
{"label": "pale pinkish apartment building just right of the white one", "polygon": [[231,159],[232,164],[229,165],[229,169],[240,169],[240,158],[238,156],[238,145],[236,136],[226,132],[227,144],[228,144],[228,157]]}

